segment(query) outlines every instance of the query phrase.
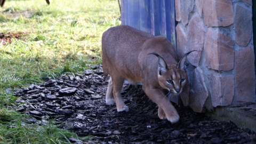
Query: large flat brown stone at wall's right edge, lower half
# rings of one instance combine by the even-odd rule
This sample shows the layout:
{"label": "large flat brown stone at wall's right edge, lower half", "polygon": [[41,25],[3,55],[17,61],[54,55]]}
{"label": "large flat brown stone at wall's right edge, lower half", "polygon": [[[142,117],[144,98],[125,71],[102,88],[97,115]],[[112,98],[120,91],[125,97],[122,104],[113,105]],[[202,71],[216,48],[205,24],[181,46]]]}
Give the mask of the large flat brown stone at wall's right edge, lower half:
{"label": "large flat brown stone at wall's right edge, lower half", "polygon": [[255,102],[254,51],[247,46],[235,52],[235,98],[237,101]]}

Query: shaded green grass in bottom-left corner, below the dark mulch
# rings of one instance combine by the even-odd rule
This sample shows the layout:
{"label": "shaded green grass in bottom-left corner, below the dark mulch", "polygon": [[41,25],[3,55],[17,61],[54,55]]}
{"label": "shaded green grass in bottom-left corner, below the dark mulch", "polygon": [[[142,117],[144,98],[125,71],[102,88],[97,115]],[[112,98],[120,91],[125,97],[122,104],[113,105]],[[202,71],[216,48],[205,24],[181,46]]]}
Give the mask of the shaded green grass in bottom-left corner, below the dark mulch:
{"label": "shaded green grass in bottom-left corner, below the dark mulch", "polygon": [[68,138],[78,139],[75,133],[58,128],[52,122],[28,124],[26,116],[14,111],[0,110],[1,143],[70,143]]}

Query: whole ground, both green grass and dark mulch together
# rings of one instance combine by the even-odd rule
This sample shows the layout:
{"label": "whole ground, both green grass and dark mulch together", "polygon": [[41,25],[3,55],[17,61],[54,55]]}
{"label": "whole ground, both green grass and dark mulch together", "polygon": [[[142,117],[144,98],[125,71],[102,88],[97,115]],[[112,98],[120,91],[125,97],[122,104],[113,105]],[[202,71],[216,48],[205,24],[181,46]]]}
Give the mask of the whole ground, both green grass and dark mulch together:
{"label": "whole ground, both green grass and dark mulch together", "polygon": [[[231,122],[209,121],[183,107],[177,107],[178,124],[162,121],[155,103],[141,88],[124,89],[130,111],[117,113],[115,106],[105,104],[107,78],[101,73],[66,73],[101,62],[103,31],[121,25],[117,1],[54,0],[51,5],[43,0],[6,1],[0,11],[2,37],[28,32],[0,44],[0,143],[86,142],[87,137],[79,141],[75,134],[57,130],[58,125],[80,136],[92,135],[93,142],[87,143],[246,143],[253,138],[250,130],[237,129]],[[43,83],[42,78],[48,76],[55,79]],[[13,96],[21,86],[25,87]],[[218,129],[210,129],[217,124]]]}

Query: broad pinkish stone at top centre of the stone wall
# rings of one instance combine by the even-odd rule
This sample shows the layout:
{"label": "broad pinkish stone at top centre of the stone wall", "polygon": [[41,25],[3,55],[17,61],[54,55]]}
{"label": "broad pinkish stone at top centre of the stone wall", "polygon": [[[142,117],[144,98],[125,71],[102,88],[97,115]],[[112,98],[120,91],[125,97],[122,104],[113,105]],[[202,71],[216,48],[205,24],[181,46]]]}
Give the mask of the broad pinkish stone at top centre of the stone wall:
{"label": "broad pinkish stone at top centre of the stone wall", "polygon": [[227,27],[234,22],[230,0],[197,1],[197,5],[203,5],[204,22],[208,27]]}

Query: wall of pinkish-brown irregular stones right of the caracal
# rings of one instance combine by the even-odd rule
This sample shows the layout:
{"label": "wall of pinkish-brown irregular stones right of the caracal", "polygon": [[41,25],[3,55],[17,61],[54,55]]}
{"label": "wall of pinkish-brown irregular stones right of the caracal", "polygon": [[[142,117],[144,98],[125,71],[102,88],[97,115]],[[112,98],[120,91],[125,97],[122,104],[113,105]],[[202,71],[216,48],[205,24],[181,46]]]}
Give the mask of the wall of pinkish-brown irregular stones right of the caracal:
{"label": "wall of pinkish-brown irregular stones right of the caracal", "polygon": [[255,102],[252,0],[175,0],[177,52],[189,51],[190,107]]}

